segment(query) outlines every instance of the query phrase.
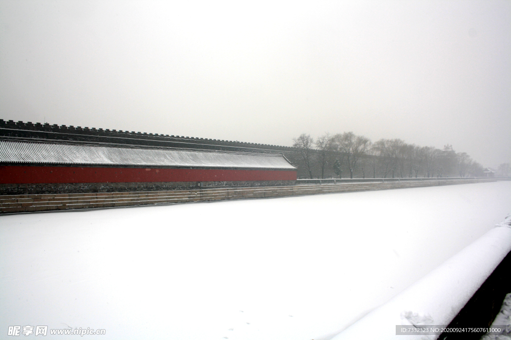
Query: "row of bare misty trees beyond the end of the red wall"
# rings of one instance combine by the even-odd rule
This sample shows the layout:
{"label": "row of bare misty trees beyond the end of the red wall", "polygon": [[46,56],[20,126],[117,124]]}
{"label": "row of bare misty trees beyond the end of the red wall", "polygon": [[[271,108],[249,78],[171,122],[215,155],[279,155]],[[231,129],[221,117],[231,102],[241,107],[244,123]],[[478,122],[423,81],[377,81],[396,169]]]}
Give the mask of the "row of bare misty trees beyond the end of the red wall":
{"label": "row of bare misty trees beyond the end of the red wall", "polygon": [[483,176],[481,164],[466,152],[446,145],[440,150],[401,139],[371,142],[353,132],[325,133],[315,140],[307,134],[293,138],[292,162],[300,177],[309,178],[405,178]]}

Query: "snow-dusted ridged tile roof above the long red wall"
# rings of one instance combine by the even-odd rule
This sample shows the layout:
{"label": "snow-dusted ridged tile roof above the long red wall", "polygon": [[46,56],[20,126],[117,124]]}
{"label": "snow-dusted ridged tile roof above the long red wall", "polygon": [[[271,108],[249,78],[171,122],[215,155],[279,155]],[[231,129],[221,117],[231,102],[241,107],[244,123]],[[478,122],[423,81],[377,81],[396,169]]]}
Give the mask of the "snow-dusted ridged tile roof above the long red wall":
{"label": "snow-dusted ridged tile roof above the long red wall", "polygon": [[296,169],[283,155],[0,141],[0,163]]}

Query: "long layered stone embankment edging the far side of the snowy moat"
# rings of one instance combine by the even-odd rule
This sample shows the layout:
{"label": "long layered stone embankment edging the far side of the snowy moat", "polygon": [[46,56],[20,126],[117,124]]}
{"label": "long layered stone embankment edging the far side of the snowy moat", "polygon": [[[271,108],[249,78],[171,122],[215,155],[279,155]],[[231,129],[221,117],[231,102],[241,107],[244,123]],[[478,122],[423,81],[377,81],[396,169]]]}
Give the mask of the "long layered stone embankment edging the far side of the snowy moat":
{"label": "long layered stone embankment edging the far side of the snowy moat", "polygon": [[[329,194],[356,191],[404,189],[440,185],[471,184],[496,181],[494,178],[453,180],[420,180],[402,182],[350,182],[342,184],[315,184],[275,187],[213,188],[196,190],[81,193],[0,196],[0,214],[24,213],[83,208],[170,204],[227,199],[268,198],[300,195]],[[509,220],[511,223],[511,218]]]}

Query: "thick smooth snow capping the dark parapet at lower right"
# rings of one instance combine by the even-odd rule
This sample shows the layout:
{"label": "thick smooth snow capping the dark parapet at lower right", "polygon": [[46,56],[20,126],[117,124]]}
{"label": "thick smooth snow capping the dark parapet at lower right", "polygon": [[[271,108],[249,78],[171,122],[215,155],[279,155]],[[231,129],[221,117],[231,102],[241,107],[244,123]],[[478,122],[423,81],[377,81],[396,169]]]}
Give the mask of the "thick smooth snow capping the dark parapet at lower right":
{"label": "thick smooth snow capping the dark parapet at lower right", "polygon": [[510,250],[511,228],[495,227],[333,339],[435,339],[396,325],[448,325]]}

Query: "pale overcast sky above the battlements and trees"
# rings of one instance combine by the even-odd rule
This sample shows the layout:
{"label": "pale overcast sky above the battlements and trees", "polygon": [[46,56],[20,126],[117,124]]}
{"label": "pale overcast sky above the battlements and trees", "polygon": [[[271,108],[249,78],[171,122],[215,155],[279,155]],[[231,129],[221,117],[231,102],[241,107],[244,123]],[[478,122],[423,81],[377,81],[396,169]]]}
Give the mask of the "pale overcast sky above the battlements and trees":
{"label": "pale overcast sky above the battlements and trees", "polygon": [[511,162],[511,2],[0,0],[0,118]]}

